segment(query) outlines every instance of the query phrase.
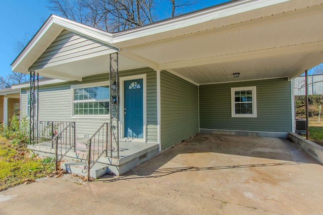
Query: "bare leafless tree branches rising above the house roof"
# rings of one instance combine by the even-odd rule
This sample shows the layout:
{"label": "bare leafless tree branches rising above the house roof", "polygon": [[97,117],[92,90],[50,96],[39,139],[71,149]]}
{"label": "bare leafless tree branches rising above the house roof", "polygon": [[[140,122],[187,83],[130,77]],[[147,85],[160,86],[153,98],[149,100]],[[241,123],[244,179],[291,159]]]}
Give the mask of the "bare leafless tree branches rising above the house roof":
{"label": "bare leafless tree branches rising above the house roof", "polygon": [[[181,14],[195,4],[189,0],[167,0],[172,4],[171,16]],[[157,11],[165,4],[155,0],[48,0],[47,8],[67,19],[109,32],[122,31],[156,21]],[[187,12],[187,11],[185,11]],[[168,17],[161,17],[168,18]]]}

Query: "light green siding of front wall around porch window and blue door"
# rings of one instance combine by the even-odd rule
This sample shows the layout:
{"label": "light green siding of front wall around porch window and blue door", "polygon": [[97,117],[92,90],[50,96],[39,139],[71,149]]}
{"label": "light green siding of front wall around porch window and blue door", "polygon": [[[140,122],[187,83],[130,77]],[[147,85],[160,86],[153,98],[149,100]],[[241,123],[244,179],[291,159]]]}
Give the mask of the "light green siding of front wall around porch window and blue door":
{"label": "light green siding of front wall around porch window and blue door", "polygon": [[[147,142],[157,142],[156,72],[149,68],[119,71],[119,76],[146,74],[147,78]],[[39,86],[39,121],[75,121],[76,135],[92,135],[102,123],[110,121],[109,115],[101,118],[71,117],[71,85],[109,81],[109,73],[84,77],[82,82],[64,82]],[[21,94],[21,113],[26,115],[27,91]]]}

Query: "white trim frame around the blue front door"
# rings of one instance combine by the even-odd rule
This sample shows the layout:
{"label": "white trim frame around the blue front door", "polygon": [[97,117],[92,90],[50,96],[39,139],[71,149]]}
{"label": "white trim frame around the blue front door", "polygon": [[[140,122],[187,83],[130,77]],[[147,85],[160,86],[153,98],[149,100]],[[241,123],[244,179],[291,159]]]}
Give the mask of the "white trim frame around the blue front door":
{"label": "white trim frame around the blue front door", "polygon": [[143,98],[142,98],[142,102],[143,102],[143,138],[134,138],[134,140],[136,141],[143,141],[143,142],[147,142],[147,76],[146,74],[141,74],[141,75],[134,75],[134,76],[125,76],[125,77],[120,77],[119,78],[119,84],[120,84],[120,109],[119,109],[119,113],[120,113],[120,138],[124,139],[124,109],[125,109],[125,104],[124,104],[124,98],[125,98],[125,92],[124,92],[124,82],[125,81],[129,81],[129,80],[134,80],[134,79],[142,79],[143,82]]}

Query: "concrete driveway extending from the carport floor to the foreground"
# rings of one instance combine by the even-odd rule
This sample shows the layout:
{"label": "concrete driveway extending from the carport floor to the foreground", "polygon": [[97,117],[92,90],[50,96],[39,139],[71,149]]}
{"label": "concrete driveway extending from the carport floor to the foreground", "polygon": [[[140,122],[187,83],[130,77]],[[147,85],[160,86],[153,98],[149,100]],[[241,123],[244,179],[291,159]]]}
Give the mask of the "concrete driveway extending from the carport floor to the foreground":
{"label": "concrete driveway extending from the carport floor to the foreground", "polygon": [[199,134],[122,177],[0,192],[0,214],[323,214],[323,166],[286,139]]}

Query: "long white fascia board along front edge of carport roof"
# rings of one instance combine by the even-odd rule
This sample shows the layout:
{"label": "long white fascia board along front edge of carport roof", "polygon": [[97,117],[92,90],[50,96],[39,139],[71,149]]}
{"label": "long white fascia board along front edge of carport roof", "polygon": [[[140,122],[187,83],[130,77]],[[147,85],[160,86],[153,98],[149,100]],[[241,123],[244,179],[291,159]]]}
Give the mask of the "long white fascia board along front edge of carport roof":
{"label": "long white fascia board along front edge of carport roof", "polygon": [[[220,7],[203,10],[199,13],[192,13],[186,16],[157,22],[155,24],[143,26],[129,31],[113,34],[113,43],[136,39],[153,34],[163,33],[171,30],[185,28],[188,26],[204,23],[207,21],[230,17],[236,14],[253,11],[256,9],[289,2],[291,0],[245,0],[225,4]],[[134,44],[135,45],[135,44]]]}

